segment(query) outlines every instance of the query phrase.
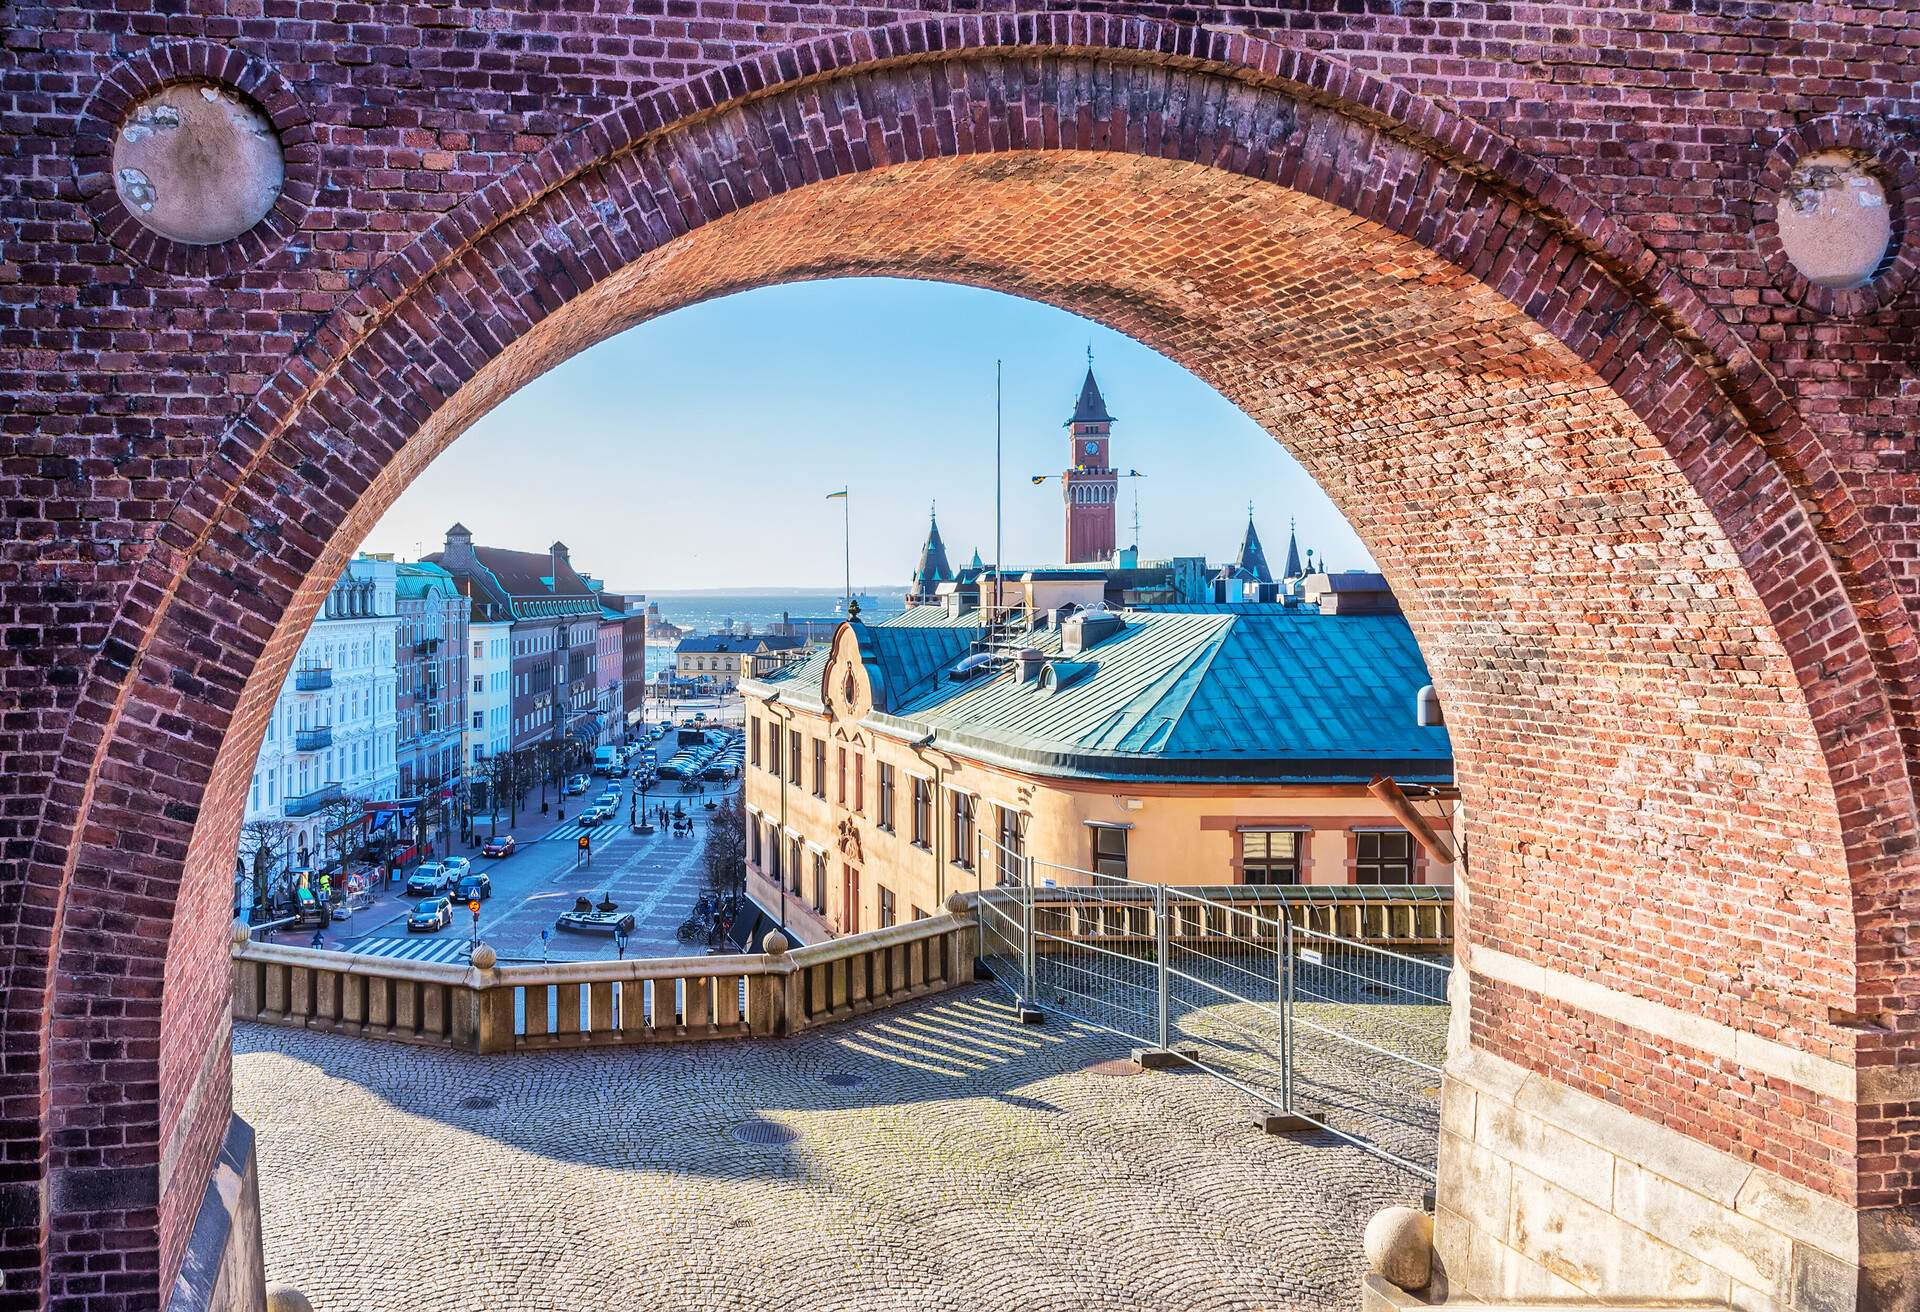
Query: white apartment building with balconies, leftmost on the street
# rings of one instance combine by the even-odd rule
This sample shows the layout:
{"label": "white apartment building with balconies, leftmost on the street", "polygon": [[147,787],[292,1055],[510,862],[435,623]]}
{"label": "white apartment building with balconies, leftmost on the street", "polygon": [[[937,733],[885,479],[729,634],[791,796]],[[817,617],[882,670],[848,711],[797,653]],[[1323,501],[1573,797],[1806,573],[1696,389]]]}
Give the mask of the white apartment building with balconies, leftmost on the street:
{"label": "white apartment building with balconies, leftmost on the street", "polygon": [[[292,864],[328,853],[328,803],[399,790],[394,563],[355,559],[326,594],[253,763],[246,820],[286,820]],[[246,839],[242,839],[242,847]],[[280,863],[286,864],[286,863]]]}

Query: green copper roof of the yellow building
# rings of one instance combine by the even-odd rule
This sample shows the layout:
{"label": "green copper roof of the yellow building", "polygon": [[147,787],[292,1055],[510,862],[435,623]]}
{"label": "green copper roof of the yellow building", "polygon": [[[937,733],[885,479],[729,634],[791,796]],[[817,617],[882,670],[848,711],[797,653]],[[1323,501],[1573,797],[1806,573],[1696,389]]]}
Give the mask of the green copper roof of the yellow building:
{"label": "green copper roof of the yellow building", "polygon": [[[1068,778],[1453,778],[1448,732],[1413,722],[1415,693],[1430,680],[1400,615],[1235,603],[1144,607],[1121,619],[1117,634],[1071,659],[1060,630],[1016,640],[1046,659],[1041,682],[1000,668],[964,684],[947,672],[981,634],[977,613],[914,607],[860,624],[876,674],[872,722]],[[818,709],[826,661],[816,651],[756,684]]]}

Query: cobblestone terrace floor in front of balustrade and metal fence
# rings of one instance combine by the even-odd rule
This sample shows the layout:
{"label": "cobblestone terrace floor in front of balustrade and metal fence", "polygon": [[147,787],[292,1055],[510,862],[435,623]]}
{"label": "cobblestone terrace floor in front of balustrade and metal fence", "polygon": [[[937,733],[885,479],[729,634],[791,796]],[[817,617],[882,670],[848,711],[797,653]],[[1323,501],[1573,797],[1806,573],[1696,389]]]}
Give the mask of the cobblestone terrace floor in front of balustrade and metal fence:
{"label": "cobblestone terrace floor in front of balustrade and metal fence", "polygon": [[236,1026],[234,1105],[269,1277],[319,1312],[1352,1306],[1361,1227],[1419,1181],[1116,1057],[989,985],[795,1039],[484,1058]]}

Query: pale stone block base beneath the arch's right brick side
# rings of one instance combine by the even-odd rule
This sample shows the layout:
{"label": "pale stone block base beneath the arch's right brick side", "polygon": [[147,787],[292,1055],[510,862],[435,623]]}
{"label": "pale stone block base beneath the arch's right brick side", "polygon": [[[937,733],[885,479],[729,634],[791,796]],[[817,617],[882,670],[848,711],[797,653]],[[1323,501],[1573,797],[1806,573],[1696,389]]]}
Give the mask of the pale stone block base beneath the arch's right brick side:
{"label": "pale stone block base beneath the arch's right brick side", "polygon": [[1857,1212],[1478,1051],[1446,1066],[1434,1285],[1482,1300],[1914,1306],[1907,1218]]}

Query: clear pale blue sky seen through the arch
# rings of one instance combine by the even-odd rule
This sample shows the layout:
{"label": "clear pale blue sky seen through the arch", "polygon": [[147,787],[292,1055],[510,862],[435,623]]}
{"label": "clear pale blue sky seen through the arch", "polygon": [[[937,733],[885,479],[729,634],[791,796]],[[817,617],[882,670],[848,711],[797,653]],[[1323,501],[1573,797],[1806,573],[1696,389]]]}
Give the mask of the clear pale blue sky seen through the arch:
{"label": "clear pale blue sky seen through the arch", "polygon": [[741,292],[643,323],[536,378],[459,438],[369,534],[440,547],[453,521],[488,546],[566,542],[618,588],[841,582],[852,490],[856,586],[904,586],[939,501],[954,565],[993,555],[993,361],[1004,361],[1010,565],[1058,563],[1060,486],[1087,346],[1116,415],[1121,542],[1140,498],[1146,555],[1225,559],[1246,501],[1273,563],[1286,521],[1336,569],[1369,565],[1317,484],[1217,392],[1164,355],[998,292],[835,279]]}

